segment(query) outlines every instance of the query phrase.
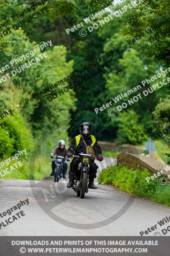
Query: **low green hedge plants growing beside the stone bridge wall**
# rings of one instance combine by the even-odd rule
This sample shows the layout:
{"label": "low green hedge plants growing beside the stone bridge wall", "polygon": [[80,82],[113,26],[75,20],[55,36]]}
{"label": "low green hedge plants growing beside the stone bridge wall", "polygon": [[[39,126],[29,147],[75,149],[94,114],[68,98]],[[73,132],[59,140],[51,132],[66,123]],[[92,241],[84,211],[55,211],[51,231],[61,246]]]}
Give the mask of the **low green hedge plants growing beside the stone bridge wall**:
{"label": "low green hedge plants growing beside the stone bridge wall", "polygon": [[139,168],[133,170],[123,165],[111,165],[100,172],[98,182],[111,184],[130,194],[147,197],[159,204],[170,206],[170,184],[161,185],[159,183],[161,177],[148,183],[145,180],[148,176],[152,175],[147,169],[141,171]]}

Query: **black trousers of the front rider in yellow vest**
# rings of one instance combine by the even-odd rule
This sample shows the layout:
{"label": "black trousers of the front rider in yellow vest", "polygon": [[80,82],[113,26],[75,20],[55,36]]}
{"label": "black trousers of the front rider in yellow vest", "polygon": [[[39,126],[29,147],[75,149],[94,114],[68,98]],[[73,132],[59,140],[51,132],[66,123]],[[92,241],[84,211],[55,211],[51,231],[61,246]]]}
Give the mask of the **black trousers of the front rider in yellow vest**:
{"label": "black trousers of the front rider in yellow vest", "polygon": [[[70,171],[69,171],[69,179],[74,179],[74,176],[78,172],[78,164],[80,163],[80,160],[76,160],[73,158],[73,160],[70,163]],[[94,161],[90,161],[90,168],[89,168],[89,177],[96,178],[97,173],[97,164],[94,163]]]}

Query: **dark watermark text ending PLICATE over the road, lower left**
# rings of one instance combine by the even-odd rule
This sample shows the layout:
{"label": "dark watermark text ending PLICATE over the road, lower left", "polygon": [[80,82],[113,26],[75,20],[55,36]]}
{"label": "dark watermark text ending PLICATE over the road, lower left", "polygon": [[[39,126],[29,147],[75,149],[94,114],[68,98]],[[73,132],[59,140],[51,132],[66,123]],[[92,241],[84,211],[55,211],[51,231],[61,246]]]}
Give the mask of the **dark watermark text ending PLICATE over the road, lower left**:
{"label": "dark watermark text ending PLICATE over the road, lower left", "polygon": [[[29,204],[28,198],[25,199],[24,201],[20,200],[20,202],[17,205],[14,205],[13,207],[9,208],[8,210],[4,211],[4,212],[0,212],[0,229],[2,229],[3,227],[5,228],[6,226],[8,226],[9,224],[13,223],[16,220],[19,220],[21,217],[25,216],[25,213],[22,211],[19,211],[17,213],[15,213],[14,215],[10,216],[12,214],[12,212],[15,212],[16,210],[20,210],[20,208],[22,206],[24,206],[25,204]],[[9,218],[6,216],[10,216]],[[5,218],[7,218],[6,220],[4,220]]]}

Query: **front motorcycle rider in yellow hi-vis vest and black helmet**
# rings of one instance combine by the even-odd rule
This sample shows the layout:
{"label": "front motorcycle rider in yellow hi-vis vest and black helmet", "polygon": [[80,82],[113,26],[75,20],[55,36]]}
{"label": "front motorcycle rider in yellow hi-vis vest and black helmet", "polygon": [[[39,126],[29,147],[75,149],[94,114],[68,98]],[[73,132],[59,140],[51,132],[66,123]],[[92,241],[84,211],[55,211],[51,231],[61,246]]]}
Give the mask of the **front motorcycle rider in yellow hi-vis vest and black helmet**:
{"label": "front motorcycle rider in yellow hi-vis vest and black helmet", "polygon": [[[70,144],[70,148],[67,150],[67,156],[71,157],[74,154],[78,153],[84,153],[86,154],[86,145],[91,146],[94,148],[97,159],[99,161],[103,160],[103,156],[101,155],[101,148],[99,144],[97,143],[96,138],[91,135],[92,133],[92,125],[90,123],[82,123],[79,127],[80,134],[72,140]],[[83,141],[85,140],[85,143]],[[73,160],[70,163],[70,171],[69,171],[69,183],[67,184],[67,188],[71,188],[74,183],[74,175],[78,172],[78,164],[80,163],[80,160],[76,160],[73,158]],[[90,161],[90,168],[89,168],[89,184],[88,188],[95,189],[96,186],[94,185],[94,178],[96,178],[98,166],[94,163],[94,160]]]}

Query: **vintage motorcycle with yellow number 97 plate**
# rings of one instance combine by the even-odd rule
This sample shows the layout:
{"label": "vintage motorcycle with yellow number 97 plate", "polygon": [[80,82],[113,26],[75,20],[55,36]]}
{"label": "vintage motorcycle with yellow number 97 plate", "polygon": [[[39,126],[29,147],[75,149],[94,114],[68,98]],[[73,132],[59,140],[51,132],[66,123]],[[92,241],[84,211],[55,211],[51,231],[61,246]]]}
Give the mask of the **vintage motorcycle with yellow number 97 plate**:
{"label": "vintage motorcycle with yellow number 97 plate", "polygon": [[[74,189],[74,191],[77,193],[77,196],[84,198],[85,193],[88,192],[89,163],[91,160],[95,160],[97,158],[92,155],[83,153],[79,153],[77,156],[72,156],[70,158],[76,158],[77,160],[80,160],[80,164],[78,165],[78,173],[75,175],[72,189]],[[74,161],[74,159],[72,161]]]}

